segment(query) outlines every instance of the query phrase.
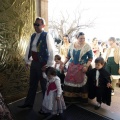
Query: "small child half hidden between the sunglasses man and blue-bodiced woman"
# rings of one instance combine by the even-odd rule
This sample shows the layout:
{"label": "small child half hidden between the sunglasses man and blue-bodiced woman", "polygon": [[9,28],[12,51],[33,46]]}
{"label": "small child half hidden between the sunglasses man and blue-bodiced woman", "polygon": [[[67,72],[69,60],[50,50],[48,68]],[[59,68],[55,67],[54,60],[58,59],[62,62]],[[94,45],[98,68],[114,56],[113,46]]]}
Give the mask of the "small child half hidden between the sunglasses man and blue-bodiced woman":
{"label": "small child half hidden between the sunglasses man and blue-bodiced woman", "polygon": [[59,55],[55,55],[55,69],[57,70],[57,76],[61,80],[61,84],[64,84],[65,74],[64,74],[64,64],[61,61],[61,57]]}

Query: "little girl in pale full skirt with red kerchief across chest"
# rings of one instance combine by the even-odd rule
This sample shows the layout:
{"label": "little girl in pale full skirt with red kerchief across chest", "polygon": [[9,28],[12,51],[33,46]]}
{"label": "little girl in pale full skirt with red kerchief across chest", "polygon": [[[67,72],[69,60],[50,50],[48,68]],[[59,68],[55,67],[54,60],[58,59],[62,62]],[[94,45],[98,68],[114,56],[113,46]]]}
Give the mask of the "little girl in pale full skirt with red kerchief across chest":
{"label": "little girl in pale full skirt with red kerchief across chest", "polygon": [[43,77],[47,80],[47,88],[42,103],[42,112],[59,115],[66,109],[60,78],[53,67],[48,67],[46,73],[43,72]]}

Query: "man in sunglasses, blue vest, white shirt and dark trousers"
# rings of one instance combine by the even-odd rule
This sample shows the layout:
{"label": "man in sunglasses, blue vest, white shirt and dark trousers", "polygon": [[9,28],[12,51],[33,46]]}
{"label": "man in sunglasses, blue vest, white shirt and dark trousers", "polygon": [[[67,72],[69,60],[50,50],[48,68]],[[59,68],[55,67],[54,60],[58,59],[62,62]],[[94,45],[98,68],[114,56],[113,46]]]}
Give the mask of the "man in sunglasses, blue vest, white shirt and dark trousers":
{"label": "man in sunglasses, blue vest, white shirt and dark trousers", "polygon": [[44,32],[45,20],[36,18],[33,33],[25,54],[26,67],[30,66],[29,91],[24,105],[19,108],[32,108],[36,96],[38,82],[40,81],[43,97],[45,94],[46,80],[42,77],[42,68],[54,64],[55,45],[52,37]]}

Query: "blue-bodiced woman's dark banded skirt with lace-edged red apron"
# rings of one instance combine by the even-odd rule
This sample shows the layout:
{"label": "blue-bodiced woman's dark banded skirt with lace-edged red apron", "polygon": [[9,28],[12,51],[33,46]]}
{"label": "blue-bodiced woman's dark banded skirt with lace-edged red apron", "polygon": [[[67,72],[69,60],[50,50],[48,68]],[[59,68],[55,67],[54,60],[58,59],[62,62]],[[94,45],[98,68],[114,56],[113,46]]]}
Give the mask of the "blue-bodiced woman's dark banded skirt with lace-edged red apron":
{"label": "blue-bodiced woman's dark banded skirt with lace-edged red apron", "polygon": [[71,63],[64,82],[64,99],[66,103],[87,103],[87,77],[82,71],[83,65]]}

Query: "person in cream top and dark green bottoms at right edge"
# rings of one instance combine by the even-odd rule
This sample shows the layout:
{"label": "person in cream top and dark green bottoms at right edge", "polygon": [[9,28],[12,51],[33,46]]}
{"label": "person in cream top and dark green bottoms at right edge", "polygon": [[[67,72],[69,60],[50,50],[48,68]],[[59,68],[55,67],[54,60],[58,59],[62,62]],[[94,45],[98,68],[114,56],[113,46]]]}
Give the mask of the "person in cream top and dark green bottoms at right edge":
{"label": "person in cream top and dark green bottoms at right edge", "polygon": [[[114,37],[110,37],[109,48],[106,52],[106,66],[105,69],[112,75],[112,87],[115,90],[116,83],[120,79],[120,47],[117,46]],[[114,95],[114,90],[112,95]]]}

